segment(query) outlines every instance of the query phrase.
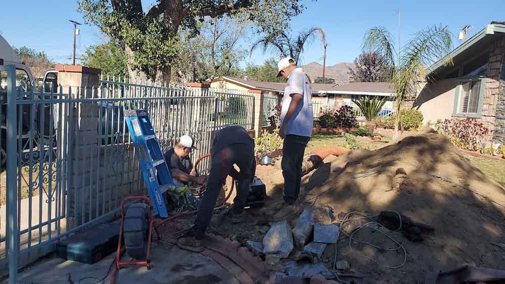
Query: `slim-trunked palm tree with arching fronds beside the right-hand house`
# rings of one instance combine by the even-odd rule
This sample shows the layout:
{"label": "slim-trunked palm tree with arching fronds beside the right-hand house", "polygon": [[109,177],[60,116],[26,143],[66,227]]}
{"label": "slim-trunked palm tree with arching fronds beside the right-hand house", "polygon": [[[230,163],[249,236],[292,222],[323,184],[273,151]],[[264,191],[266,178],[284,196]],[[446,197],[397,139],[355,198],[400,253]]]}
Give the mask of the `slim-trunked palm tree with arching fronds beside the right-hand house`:
{"label": "slim-trunked palm tree with arching fronds beside the right-hand house", "polygon": [[[419,84],[427,78],[426,67],[444,58],[452,47],[451,33],[447,27],[432,26],[417,32],[399,54],[394,50],[394,42],[384,27],[374,27],[367,31],[363,40],[364,51],[375,51],[382,55],[394,69],[391,79],[395,93],[395,122],[393,138],[398,137],[400,109],[408,98],[415,96]],[[445,65],[452,65],[452,58],[446,58]],[[433,78],[430,78],[433,80]]]}

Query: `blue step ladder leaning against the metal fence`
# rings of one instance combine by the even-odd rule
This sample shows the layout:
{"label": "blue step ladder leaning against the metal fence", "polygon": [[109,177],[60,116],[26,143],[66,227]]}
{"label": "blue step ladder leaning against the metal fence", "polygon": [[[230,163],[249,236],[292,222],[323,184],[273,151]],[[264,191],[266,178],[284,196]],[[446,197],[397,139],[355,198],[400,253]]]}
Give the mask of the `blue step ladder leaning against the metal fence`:
{"label": "blue step ladder leaning against the metal fence", "polygon": [[140,155],[140,169],[154,214],[166,218],[168,211],[163,194],[173,185],[173,180],[149,114],[143,109],[125,109],[124,115],[133,145]]}

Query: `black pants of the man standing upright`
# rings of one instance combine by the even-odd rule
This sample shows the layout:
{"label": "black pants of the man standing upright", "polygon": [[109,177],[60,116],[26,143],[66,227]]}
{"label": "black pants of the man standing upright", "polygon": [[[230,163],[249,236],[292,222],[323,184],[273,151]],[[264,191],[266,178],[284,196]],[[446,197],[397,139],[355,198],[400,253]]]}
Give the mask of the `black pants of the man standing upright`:
{"label": "black pants of the man standing upright", "polygon": [[282,176],[284,177],[284,201],[293,204],[300,193],[301,163],[310,137],[286,135],[282,146]]}

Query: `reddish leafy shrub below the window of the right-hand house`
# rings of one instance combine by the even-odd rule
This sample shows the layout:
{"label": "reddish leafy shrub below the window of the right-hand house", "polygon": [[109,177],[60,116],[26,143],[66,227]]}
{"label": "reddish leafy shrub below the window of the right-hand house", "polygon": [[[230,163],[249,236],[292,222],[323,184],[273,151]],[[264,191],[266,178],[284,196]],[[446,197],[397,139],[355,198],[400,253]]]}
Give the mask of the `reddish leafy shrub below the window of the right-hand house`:
{"label": "reddish leafy shrub below the window of the right-hand house", "polygon": [[471,151],[484,148],[484,137],[489,133],[489,129],[482,123],[471,118],[438,121],[435,128],[455,146]]}

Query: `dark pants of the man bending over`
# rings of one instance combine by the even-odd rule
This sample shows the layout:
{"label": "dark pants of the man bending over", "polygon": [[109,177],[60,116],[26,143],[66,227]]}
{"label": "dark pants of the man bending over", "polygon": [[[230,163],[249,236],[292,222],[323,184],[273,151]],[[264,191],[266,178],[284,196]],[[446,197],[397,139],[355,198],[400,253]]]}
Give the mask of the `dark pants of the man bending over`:
{"label": "dark pants of the man bending over", "polygon": [[[233,165],[240,169],[237,172]],[[237,196],[233,200],[233,213],[239,214],[245,207],[250,191],[250,182],[254,178],[256,160],[254,148],[245,144],[232,144],[212,156],[207,190],[201,200],[193,226],[196,239],[203,239],[212,219],[214,206],[221,191],[223,180],[228,175],[238,181]]]}

